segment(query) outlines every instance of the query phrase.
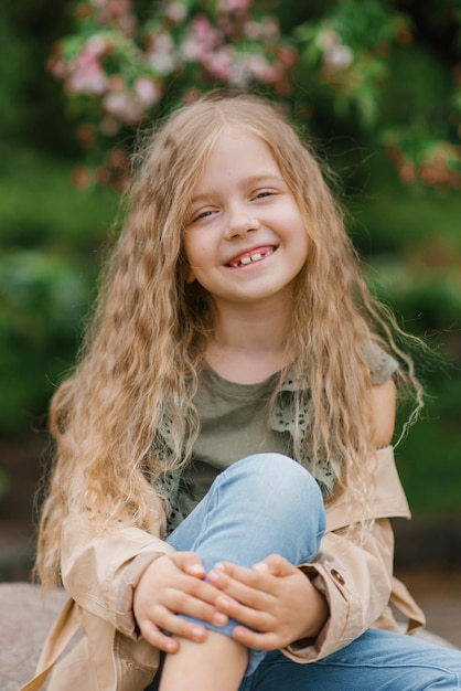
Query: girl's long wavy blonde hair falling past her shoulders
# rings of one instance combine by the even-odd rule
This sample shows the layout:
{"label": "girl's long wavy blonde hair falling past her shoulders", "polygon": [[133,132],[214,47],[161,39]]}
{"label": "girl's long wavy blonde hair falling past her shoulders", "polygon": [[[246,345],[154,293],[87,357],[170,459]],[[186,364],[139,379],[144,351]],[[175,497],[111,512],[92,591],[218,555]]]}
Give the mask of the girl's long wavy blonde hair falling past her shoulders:
{"label": "girl's long wavy blonde hair falling past her shoulders", "polygon": [[[294,129],[255,96],[212,94],[184,106],[133,159],[125,226],[79,361],[52,401],[56,459],[36,561],[45,585],[60,581],[60,530],[71,511],[85,511],[103,529],[117,520],[150,530],[159,506],[156,478],[190,458],[200,430],[193,398],[213,323],[206,293],[185,280],[182,234],[192,190],[228,126],[269,146],[305,219],[310,252],[297,278],[287,362],[294,363],[290,374],[309,381],[310,444],[314,456],[341,459],[339,489],[351,487],[363,498],[369,487],[364,346],[378,343],[398,358],[399,378],[420,405],[411,360],[393,340],[398,328],[371,296],[321,168]],[[165,427],[174,439],[168,454]]]}

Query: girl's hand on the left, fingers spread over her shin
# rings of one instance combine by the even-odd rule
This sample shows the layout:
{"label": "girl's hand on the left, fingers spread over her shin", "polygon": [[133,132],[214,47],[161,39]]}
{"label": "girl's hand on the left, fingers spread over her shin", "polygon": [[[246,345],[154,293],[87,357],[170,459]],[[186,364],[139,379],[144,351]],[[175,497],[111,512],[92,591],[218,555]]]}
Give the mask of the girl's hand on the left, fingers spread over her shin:
{"label": "girl's hand on the left, fingers spread over her shin", "polygon": [[[204,581],[205,571],[194,552],[159,556],[142,574],[133,596],[133,613],[142,636],[164,652],[178,652],[176,636],[202,642],[206,628],[178,614],[227,624],[227,616],[214,606],[221,592]],[[171,636],[164,634],[169,631]]]}

